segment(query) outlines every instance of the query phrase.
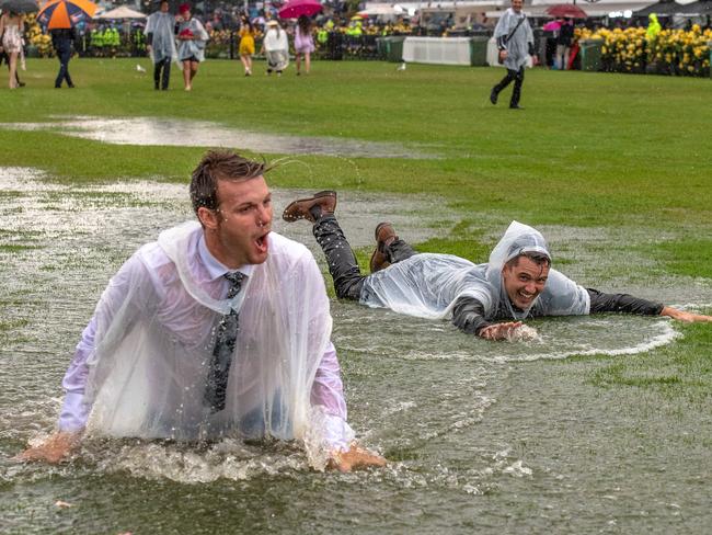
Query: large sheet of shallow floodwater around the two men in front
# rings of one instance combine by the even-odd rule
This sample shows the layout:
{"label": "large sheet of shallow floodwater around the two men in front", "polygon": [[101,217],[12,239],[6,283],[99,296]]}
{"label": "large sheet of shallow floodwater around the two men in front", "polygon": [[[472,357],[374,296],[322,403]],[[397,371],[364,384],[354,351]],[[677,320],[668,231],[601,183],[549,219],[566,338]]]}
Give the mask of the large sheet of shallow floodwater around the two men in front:
{"label": "large sheet of shallow floodwater around the two men in front", "polygon": [[[314,473],[296,445],[229,440],[93,437],[60,466],[15,462],[51,431],[62,374],[108,277],[138,246],[192,217],[186,185],[47,179],[0,172],[1,533],[709,532],[710,397],[594,380],[617,358],[675,351],[678,326],[657,318],[538,320],[539,340],[490,343],[447,322],[332,300],[349,422],[387,468]],[[276,191],[275,213],[302,193]],[[356,248],[370,247],[395,202],[402,237],[438,235],[432,197],[340,198]],[[309,225],[276,220],[275,230],[324,265]],[[627,247],[645,242],[641,231],[542,231],[574,278],[693,308],[712,303],[709,284],[630,269],[650,262]]]}

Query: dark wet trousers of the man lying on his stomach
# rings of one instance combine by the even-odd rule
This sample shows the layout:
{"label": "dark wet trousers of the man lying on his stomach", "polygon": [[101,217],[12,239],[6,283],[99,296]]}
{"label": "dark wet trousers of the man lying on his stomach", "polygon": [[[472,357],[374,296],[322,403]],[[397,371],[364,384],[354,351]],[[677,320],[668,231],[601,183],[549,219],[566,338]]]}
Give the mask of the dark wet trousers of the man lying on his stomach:
{"label": "dark wet trousers of the man lying on his stomach", "polygon": [[[340,299],[359,300],[364,280],[344,231],[333,215],[325,215],[317,219],[313,228],[317,243],[324,251],[329,273],[334,280],[334,291]],[[394,240],[386,247],[386,254],[391,264],[417,254],[413,248],[401,239]]]}

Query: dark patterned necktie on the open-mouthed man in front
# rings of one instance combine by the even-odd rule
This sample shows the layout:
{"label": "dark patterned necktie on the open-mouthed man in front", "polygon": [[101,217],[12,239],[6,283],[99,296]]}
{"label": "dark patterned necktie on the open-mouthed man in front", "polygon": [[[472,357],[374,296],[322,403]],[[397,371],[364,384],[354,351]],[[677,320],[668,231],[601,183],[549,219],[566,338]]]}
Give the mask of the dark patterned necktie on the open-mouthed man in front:
{"label": "dark patterned necktie on the open-mouthed man in front", "polygon": [[[242,280],[245,275],[236,272],[226,273],[223,276],[230,281],[228,299],[232,299],[240,293]],[[210,412],[219,412],[225,409],[225,396],[228,388],[234,343],[238,339],[238,312],[232,309],[229,314],[222,316],[220,323],[218,323],[213,358],[210,358],[210,369],[208,371],[208,385],[205,390],[205,406],[210,409]]]}

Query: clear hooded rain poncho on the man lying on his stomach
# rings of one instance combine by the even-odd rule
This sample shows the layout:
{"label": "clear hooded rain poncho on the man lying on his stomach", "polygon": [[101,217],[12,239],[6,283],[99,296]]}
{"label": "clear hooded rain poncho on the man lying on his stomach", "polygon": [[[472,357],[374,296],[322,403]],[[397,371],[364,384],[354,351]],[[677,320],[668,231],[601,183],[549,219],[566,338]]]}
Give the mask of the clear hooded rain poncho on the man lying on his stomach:
{"label": "clear hooded rain poncho on the man lying on his stomach", "polygon": [[360,301],[430,319],[450,317],[455,301],[463,296],[482,303],[486,320],[588,314],[586,288],[553,269],[531,307],[513,307],[502,282],[502,269],[524,252],[542,252],[551,258],[538,230],[513,221],[492,250],[489,263],[476,265],[451,254],[415,254],[366,277]]}

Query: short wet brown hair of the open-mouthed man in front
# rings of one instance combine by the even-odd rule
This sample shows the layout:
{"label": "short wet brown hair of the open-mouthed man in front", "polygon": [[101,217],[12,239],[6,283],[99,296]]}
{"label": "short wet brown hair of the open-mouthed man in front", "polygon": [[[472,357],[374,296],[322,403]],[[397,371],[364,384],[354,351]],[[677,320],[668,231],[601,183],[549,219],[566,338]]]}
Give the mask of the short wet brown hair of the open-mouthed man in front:
{"label": "short wet brown hair of the open-mouthed man in front", "polygon": [[198,208],[218,208],[218,181],[254,179],[269,171],[265,161],[248,160],[231,150],[208,151],[191,177],[191,203],[197,215]]}

